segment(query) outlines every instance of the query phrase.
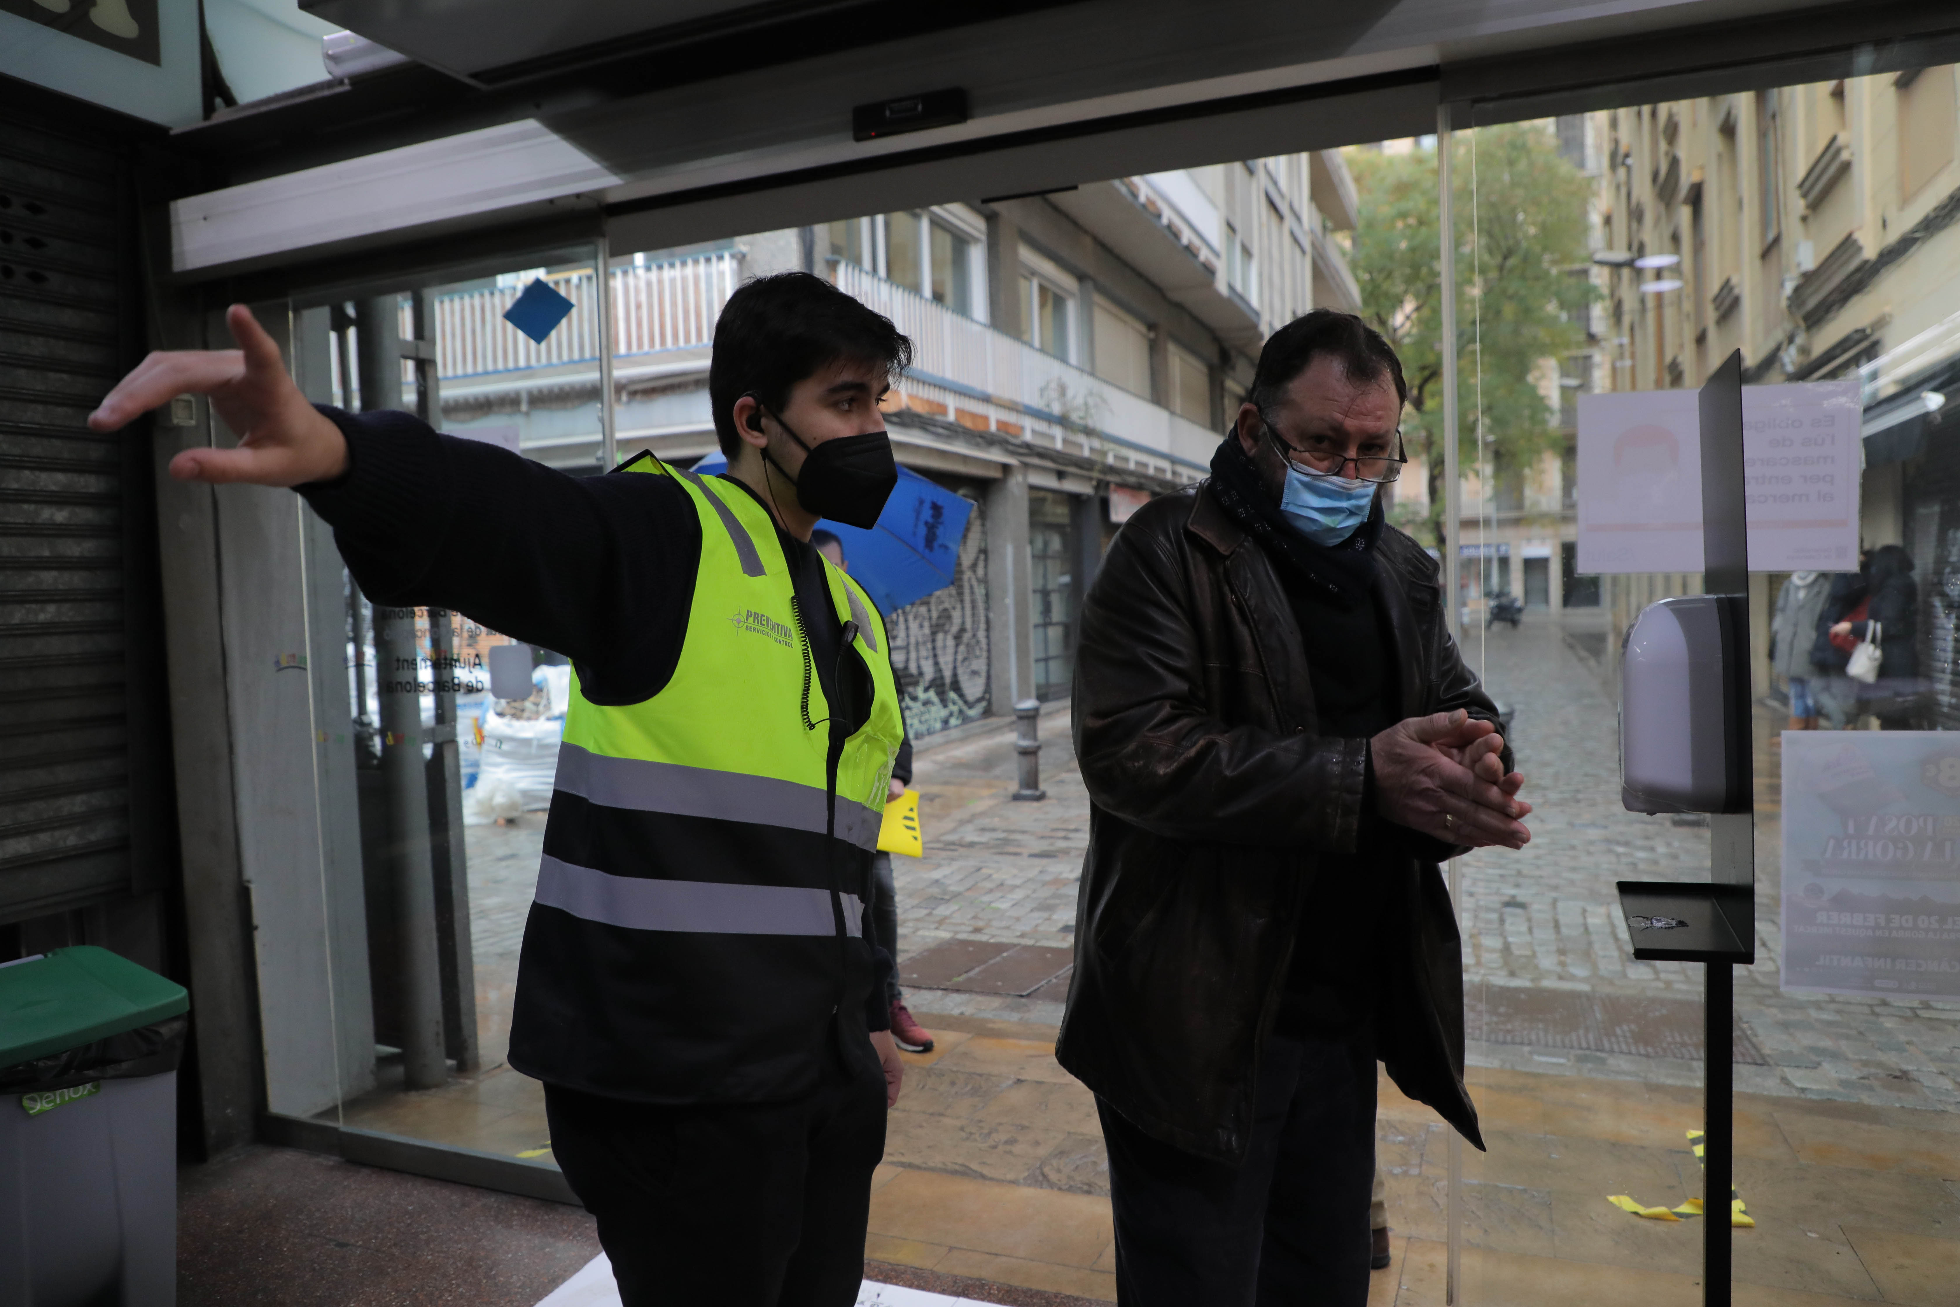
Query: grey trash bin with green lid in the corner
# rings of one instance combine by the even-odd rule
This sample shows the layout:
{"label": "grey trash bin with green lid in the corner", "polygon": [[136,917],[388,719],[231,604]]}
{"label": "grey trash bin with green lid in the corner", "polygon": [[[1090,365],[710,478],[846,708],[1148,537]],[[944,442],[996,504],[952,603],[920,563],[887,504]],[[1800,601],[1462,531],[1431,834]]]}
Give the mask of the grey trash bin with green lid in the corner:
{"label": "grey trash bin with green lid in the corner", "polygon": [[0,1303],[176,1301],[190,995],[108,948],[0,966]]}

